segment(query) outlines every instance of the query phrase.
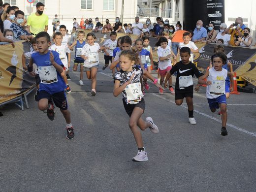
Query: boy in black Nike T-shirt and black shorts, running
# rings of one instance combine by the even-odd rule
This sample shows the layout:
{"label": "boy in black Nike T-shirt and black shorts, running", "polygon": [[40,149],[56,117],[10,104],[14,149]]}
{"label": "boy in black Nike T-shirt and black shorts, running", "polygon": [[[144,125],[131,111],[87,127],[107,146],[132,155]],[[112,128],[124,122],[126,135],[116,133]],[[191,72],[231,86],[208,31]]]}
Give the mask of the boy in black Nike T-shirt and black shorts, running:
{"label": "boy in black Nike T-shirt and black shorts, running", "polygon": [[[181,105],[183,103],[184,97],[186,97],[186,102],[189,111],[189,122],[192,125],[196,124],[193,117],[193,75],[197,78],[201,76],[199,70],[196,66],[190,62],[191,50],[189,47],[183,47],[180,49],[181,61],[175,64],[170,72],[166,75],[164,80],[164,87],[167,87],[167,81],[174,72],[177,72],[176,83],[175,83],[175,103],[176,105]],[[199,85],[194,89],[199,90]]]}

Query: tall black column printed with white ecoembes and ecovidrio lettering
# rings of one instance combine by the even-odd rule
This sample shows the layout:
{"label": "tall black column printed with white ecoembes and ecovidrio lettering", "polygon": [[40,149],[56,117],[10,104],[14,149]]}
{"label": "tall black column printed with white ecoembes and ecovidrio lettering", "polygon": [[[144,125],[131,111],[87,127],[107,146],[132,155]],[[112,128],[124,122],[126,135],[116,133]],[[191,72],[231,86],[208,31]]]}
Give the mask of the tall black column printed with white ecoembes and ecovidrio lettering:
{"label": "tall black column printed with white ecoembes and ecovidrio lettering", "polygon": [[219,30],[225,21],[224,0],[183,0],[183,7],[184,30],[194,30],[198,20],[205,28],[213,22],[215,30]]}

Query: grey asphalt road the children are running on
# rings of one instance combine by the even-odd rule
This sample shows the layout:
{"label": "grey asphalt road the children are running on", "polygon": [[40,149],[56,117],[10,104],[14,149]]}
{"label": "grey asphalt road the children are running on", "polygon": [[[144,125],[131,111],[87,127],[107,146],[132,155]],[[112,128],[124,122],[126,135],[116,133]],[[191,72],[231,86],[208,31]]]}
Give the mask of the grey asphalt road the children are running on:
{"label": "grey asphalt road the children are running on", "polygon": [[194,94],[191,125],[186,103],[175,105],[173,95],[158,95],[150,83],[143,118],[151,116],[160,132],[143,131],[149,160],[133,162],[137,147],[122,97],[113,96],[111,72],[101,67],[95,97],[86,75],[80,86],[79,71],[70,72],[73,140],[65,138],[61,112],[48,120],[33,93],[30,109],[0,108],[0,192],[256,191],[256,94],[230,96],[224,137],[204,87]]}

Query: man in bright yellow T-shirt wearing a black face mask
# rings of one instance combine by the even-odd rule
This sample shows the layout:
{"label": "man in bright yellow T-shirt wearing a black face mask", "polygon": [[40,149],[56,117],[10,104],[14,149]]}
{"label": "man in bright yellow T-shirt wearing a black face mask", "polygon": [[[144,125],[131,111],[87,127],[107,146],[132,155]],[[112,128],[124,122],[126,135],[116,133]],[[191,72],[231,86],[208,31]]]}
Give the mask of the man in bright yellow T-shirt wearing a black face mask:
{"label": "man in bright yellow T-shirt wearing a black face mask", "polygon": [[47,32],[48,30],[48,15],[43,14],[43,10],[44,4],[41,2],[36,3],[36,12],[28,18],[27,26],[34,36],[39,32]]}

